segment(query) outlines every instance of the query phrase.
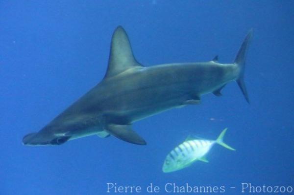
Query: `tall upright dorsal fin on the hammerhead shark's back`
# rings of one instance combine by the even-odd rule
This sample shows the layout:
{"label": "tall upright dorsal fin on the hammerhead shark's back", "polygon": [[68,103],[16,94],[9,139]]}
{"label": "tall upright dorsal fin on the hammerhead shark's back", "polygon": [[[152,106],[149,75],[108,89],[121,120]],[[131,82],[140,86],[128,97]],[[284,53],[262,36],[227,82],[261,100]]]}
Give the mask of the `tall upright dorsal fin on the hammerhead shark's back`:
{"label": "tall upright dorsal fin on the hammerhead shark's back", "polygon": [[143,65],[134,58],[127,34],[122,26],[118,26],[112,36],[108,67],[104,78],[113,77],[134,67],[143,67]]}

